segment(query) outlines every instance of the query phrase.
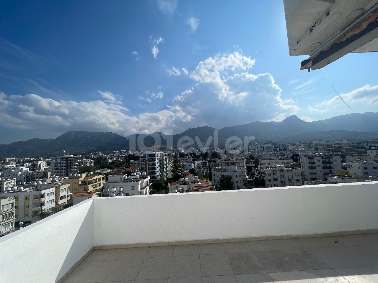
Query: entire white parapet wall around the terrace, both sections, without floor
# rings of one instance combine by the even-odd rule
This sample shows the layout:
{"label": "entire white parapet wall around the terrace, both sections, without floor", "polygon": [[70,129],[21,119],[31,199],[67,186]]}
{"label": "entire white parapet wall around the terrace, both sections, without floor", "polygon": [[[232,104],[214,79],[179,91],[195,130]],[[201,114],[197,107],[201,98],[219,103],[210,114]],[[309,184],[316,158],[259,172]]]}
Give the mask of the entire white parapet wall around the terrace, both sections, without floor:
{"label": "entire white parapet wall around the terrace, both sections, without floor", "polygon": [[[90,198],[1,237],[0,263],[17,265],[0,265],[0,274],[17,282],[57,282],[97,246],[361,233],[378,228],[377,186],[361,182]],[[127,211],[137,211],[138,218],[111,217]],[[171,211],[191,217],[167,218]],[[62,235],[64,245],[57,245]],[[25,272],[30,266],[25,252],[37,259],[43,276],[41,268]]]}

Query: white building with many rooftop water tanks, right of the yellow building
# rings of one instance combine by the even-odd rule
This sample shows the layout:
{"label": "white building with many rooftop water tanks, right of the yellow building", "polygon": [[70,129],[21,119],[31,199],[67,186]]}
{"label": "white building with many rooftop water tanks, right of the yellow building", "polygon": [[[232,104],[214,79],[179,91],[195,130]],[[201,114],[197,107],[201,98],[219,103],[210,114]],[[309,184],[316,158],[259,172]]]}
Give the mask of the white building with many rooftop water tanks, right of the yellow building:
{"label": "white building with many rooftop water tanks, right of the yellow building", "polygon": [[[102,189],[101,196],[123,195],[148,195],[150,194],[150,176],[145,172],[132,173],[127,175],[108,176],[106,188]],[[114,194],[114,195],[112,195]]]}

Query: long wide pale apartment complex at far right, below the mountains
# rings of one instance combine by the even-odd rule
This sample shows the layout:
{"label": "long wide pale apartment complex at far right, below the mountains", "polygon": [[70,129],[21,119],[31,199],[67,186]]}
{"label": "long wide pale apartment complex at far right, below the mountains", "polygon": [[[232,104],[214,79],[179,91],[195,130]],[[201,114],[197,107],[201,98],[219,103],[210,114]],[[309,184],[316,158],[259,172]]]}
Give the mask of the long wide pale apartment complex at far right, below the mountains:
{"label": "long wide pale apartment complex at far right, below the mountains", "polygon": [[348,156],[366,154],[366,147],[360,140],[314,140],[312,143],[315,154],[341,153]]}

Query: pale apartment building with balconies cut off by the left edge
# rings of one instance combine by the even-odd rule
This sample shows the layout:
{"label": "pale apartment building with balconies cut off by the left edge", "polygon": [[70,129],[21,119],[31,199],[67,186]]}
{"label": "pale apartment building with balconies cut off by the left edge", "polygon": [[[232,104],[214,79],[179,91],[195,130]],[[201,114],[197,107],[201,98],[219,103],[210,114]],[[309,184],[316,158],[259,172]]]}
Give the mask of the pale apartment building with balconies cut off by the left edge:
{"label": "pale apartment building with balconies cut off by the left edge", "polygon": [[14,230],[15,198],[0,195],[0,237]]}

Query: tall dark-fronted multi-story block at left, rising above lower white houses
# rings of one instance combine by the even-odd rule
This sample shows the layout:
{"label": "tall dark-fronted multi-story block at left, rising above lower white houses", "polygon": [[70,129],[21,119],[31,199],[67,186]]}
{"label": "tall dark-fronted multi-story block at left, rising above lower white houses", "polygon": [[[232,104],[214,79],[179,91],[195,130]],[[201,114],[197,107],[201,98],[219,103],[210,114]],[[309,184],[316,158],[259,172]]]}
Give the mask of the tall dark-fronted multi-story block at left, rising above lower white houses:
{"label": "tall dark-fronted multi-story block at left, rising above lower white houses", "polygon": [[63,155],[50,161],[52,176],[67,177],[78,174],[81,166],[84,166],[84,157],[80,155]]}

